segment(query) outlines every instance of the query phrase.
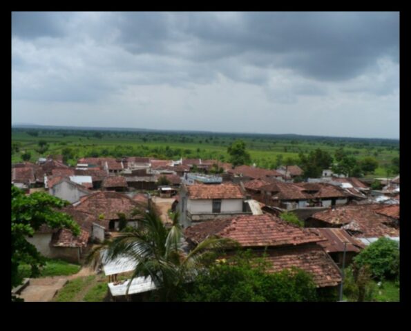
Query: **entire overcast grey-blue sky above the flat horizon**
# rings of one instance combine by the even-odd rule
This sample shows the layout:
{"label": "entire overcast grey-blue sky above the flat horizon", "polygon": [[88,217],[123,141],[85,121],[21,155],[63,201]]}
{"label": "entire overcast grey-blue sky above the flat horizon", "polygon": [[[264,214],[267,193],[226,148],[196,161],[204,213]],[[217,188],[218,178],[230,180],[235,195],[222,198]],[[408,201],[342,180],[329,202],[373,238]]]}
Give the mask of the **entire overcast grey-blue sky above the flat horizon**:
{"label": "entire overcast grey-blue sky above the flat horizon", "polygon": [[399,13],[13,12],[12,123],[399,139]]}

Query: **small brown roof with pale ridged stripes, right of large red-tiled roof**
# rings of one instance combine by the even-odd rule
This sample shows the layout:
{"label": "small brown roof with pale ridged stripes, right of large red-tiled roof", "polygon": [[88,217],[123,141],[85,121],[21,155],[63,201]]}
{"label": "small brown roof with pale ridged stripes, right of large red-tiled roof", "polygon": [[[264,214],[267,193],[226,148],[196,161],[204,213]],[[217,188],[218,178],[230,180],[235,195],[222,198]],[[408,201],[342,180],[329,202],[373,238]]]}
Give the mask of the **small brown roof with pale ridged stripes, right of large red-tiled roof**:
{"label": "small brown roof with pale ridged stripes, right of large red-tiled roof", "polygon": [[347,231],[338,228],[313,228],[312,231],[319,232],[321,236],[325,237],[326,241],[320,241],[318,244],[324,248],[325,252],[344,252],[344,242],[347,243],[345,246],[346,252],[360,252],[361,249],[365,248],[365,245],[351,237]]}

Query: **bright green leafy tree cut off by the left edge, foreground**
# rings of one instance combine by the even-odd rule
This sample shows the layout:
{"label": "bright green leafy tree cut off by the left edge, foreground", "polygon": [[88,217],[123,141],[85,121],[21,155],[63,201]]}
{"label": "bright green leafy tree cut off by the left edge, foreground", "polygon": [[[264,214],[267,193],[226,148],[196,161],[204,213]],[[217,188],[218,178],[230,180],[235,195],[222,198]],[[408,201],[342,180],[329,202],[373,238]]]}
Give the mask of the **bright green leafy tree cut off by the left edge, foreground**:
{"label": "bright green leafy tree cut off by the left edge, foreground", "polygon": [[12,185],[12,288],[23,281],[18,272],[19,264],[30,265],[31,277],[36,277],[39,275],[39,267],[45,263],[44,257],[26,237],[32,237],[41,225],[48,225],[50,228],[64,227],[72,230],[75,235],[79,234],[77,223],[68,214],[58,211],[68,204],[68,201],[44,192],[26,195]]}

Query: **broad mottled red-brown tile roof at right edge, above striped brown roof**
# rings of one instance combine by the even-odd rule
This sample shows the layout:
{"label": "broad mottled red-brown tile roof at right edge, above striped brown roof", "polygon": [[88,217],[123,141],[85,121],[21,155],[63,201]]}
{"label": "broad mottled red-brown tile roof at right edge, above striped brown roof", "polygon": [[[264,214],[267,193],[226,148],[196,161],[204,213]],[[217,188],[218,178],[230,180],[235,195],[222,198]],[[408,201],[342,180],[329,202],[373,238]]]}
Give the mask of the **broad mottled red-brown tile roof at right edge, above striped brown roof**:
{"label": "broad mottled red-brown tile roof at right edge, above striped brown roof", "polygon": [[378,214],[377,208],[381,208],[381,205],[344,205],[316,212],[312,218],[360,232],[352,234],[354,237],[399,237],[399,230],[389,226],[393,224],[392,218]]}

